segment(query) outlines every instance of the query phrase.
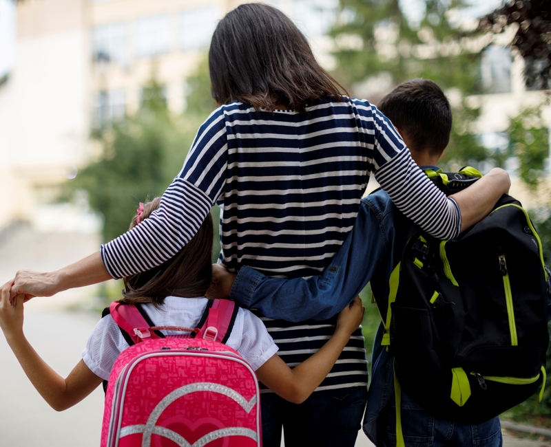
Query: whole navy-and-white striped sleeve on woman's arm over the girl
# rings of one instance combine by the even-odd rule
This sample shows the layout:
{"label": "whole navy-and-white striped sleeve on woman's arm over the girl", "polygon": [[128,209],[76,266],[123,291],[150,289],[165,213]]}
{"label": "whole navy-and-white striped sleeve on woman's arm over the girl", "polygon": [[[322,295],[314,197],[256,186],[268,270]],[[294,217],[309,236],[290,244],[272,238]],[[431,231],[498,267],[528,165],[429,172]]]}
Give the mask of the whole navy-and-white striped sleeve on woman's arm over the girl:
{"label": "whole navy-and-white striped sleeve on woman's arm over the girl", "polygon": [[101,246],[107,272],[123,278],[160,265],[196,235],[225,182],[227,138],[222,109],[200,127],[180,175],[158,210],[140,225]]}

